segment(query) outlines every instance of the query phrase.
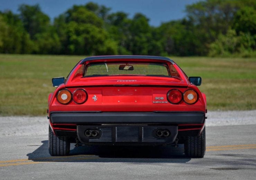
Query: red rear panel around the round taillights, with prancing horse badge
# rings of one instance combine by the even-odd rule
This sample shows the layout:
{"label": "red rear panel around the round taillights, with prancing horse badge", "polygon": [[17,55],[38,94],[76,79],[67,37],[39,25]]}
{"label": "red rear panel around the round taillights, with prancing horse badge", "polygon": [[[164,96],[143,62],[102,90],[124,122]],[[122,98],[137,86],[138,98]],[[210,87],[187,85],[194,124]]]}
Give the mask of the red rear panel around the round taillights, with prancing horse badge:
{"label": "red rear panel around the round taillights, with prancing horse badge", "polygon": [[[88,93],[88,100],[83,104],[71,101],[69,104],[61,104],[52,98],[51,111],[102,111],[102,112],[129,112],[129,111],[205,111],[202,95],[193,104],[182,101],[179,104],[171,104],[167,100],[167,93],[171,89],[184,92],[187,88],[172,87],[80,87]],[[67,88],[71,92],[77,88]],[[92,97],[96,95],[97,101]],[[56,96],[55,94],[53,96]],[[153,103],[155,97],[163,97],[163,102]]]}

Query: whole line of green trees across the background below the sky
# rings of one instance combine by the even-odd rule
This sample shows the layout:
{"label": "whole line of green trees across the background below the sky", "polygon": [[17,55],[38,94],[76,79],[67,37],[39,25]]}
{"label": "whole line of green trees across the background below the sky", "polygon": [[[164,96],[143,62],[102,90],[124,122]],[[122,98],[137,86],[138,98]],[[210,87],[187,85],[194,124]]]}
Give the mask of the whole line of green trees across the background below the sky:
{"label": "whole line of green trees across the background below the sky", "polygon": [[256,56],[255,0],[199,1],[186,6],[185,18],[158,27],[144,14],[110,10],[74,5],[53,22],[39,4],[0,11],[0,53]]}

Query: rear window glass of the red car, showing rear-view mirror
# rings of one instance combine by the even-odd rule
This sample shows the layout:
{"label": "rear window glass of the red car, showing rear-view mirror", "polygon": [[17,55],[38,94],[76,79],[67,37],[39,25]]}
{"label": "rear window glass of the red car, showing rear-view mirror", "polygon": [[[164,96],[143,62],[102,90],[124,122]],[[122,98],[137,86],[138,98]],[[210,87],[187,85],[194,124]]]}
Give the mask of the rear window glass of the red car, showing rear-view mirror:
{"label": "rear window glass of the red car, showing rear-view mirror", "polygon": [[168,66],[163,63],[116,62],[88,64],[84,77],[91,76],[161,76],[171,77]]}

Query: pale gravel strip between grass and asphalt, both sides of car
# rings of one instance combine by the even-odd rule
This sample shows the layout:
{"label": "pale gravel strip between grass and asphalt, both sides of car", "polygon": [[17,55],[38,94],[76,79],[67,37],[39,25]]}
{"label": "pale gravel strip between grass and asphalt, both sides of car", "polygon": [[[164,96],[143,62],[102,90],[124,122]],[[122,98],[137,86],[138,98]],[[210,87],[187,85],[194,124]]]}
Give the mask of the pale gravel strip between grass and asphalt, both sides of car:
{"label": "pale gravel strip between grass and asphalt, both sides of car", "polygon": [[[256,124],[256,110],[209,111],[206,126],[229,126]],[[48,120],[45,116],[0,117],[0,137],[31,136],[48,134]]]}

